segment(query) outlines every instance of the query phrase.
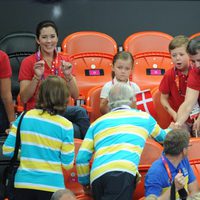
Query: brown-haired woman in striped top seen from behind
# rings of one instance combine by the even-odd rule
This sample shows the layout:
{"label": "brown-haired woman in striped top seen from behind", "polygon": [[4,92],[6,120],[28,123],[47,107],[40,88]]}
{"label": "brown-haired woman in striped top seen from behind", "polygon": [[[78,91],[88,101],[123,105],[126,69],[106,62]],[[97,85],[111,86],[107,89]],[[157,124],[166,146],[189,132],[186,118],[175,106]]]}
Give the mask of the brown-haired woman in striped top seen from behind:
{"label": "brown-haired woman in striped top seen from behind", "polygon": [[[49,200],[53,192],[65,188],[62,169],[72,168],[74,162],[73,126],[62,116],[68,98],[64,79],[48,76],[42,81],[36,109],[27,111],[21,124],[16,200]],[[3,145],[5,156],[13,156],[19,119]]]}

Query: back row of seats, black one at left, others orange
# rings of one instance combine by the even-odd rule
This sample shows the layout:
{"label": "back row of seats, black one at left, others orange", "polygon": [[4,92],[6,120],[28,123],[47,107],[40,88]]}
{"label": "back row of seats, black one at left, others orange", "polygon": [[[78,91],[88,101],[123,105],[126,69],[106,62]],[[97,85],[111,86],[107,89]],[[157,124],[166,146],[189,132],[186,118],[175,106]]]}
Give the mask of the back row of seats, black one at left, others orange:
{"label": "back row of seats, black one at left, others orange", "polygon": [[[194,36],[198,36],[198,33],[191,38]],[[144,31],[134,33],[124,41],[123,49],[131,52],[135,59],[133,74],[130,78],[142,90],[153,91],[153,88],[159,85],[165,71],[172,67],[168,52],[168,45],[172,39],[173,37],[167,33]],[[34,43],[34,34],[30,33],[14,34],[0,40],[0,48],[8,53],[14,69],[13,77],[15,78],[12,78],[14,88],[18,84],[20,62],[23,57],[33,53]],[[61,46],[61,54],[69,55],[74,64],[74,73],[80,88],[80,99],[77,102],[85,104],[95,90],[92,88],[98,88],[111,80],[111,65],[113,56],[118,51],[117,43],[107,34],[81,31],[67,36]],[[15,60],[13,61],[13,59]],[[17,65],[18,67],[16,67]],[[19,89],[16,93],[18,92]],[[89,106],[87,104],[88,112],[91,115],[92,109],[89,109]],[[23,110],[19,98],[16,110],[18,112]],[[91,121],[95,118],[91,116]]]}

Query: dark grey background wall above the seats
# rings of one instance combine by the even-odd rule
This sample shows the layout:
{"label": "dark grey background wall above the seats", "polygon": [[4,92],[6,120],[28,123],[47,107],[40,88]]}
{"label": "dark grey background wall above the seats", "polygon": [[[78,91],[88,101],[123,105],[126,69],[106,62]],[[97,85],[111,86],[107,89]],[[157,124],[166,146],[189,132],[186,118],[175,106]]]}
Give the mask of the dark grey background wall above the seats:
{"label": "dark grey background wall above the seats", "polygon": [[94,30],[119,45],[134,32],[156,30],[173,36],[200,32],[200,1],[0,0],[0,37],[35,32],[37,23],[54,20],[60,42],[68,34]]}

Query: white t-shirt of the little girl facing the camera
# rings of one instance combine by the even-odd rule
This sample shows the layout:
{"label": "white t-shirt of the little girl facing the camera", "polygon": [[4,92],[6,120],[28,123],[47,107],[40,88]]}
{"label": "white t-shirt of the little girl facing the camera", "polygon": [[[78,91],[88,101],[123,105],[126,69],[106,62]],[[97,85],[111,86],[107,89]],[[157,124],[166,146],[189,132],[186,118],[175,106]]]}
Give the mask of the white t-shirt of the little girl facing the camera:
{"label": "white t-shirt of the little girl facing the camera", "polygon": [[[113,85],[115,85],[116,83],[119,83],[119,81],[117,81],[116,78],[114,78],[112,81],[107,82],[107,83],[103,86],[103,88],[101,89],[100,98],[102,98],[102,99],[107,99],[111,87],[112,87]],[[138,93],[138,92],[140,92],[140,87],[139,87],[136,83],[131,82],[131,81],[128,80],[128,81],[127,81],[127,84],[130,85],[131,88],[133,88],[133,91],[134,91],[135,94]]]}

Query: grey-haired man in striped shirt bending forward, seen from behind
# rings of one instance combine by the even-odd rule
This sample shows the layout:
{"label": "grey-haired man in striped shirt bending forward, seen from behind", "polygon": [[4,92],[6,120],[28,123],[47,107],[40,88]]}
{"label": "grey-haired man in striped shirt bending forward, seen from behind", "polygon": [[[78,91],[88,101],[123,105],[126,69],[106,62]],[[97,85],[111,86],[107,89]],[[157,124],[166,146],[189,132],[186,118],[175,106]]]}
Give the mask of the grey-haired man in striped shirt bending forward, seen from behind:
{"label": "grey-haired man in striped shirt bending forward, seen from behind", "polygon": [[129,85],[114,85],[108,100],[110,112],[91,124],[79,149],[78,180],[85,192],[92,186],[95,200],[131,200],[146,139],[163,142],[167,130],[148,113],[131,108],[135,94]]}

